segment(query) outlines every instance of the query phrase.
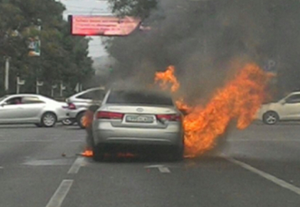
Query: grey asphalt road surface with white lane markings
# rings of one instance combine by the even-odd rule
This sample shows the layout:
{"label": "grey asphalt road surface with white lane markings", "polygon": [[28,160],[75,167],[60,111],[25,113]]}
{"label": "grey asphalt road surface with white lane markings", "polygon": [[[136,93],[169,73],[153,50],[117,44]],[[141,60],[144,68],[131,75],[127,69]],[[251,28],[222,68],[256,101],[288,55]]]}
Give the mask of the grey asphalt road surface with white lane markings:
{"label": "grey asphalt road surface with white lane markings", "polygon": [[300,206],[299,124],[234,130],[224,155],[181,162],[94,163],[76,155],[84,140],[76,127],[0,126],[0,206]]}

